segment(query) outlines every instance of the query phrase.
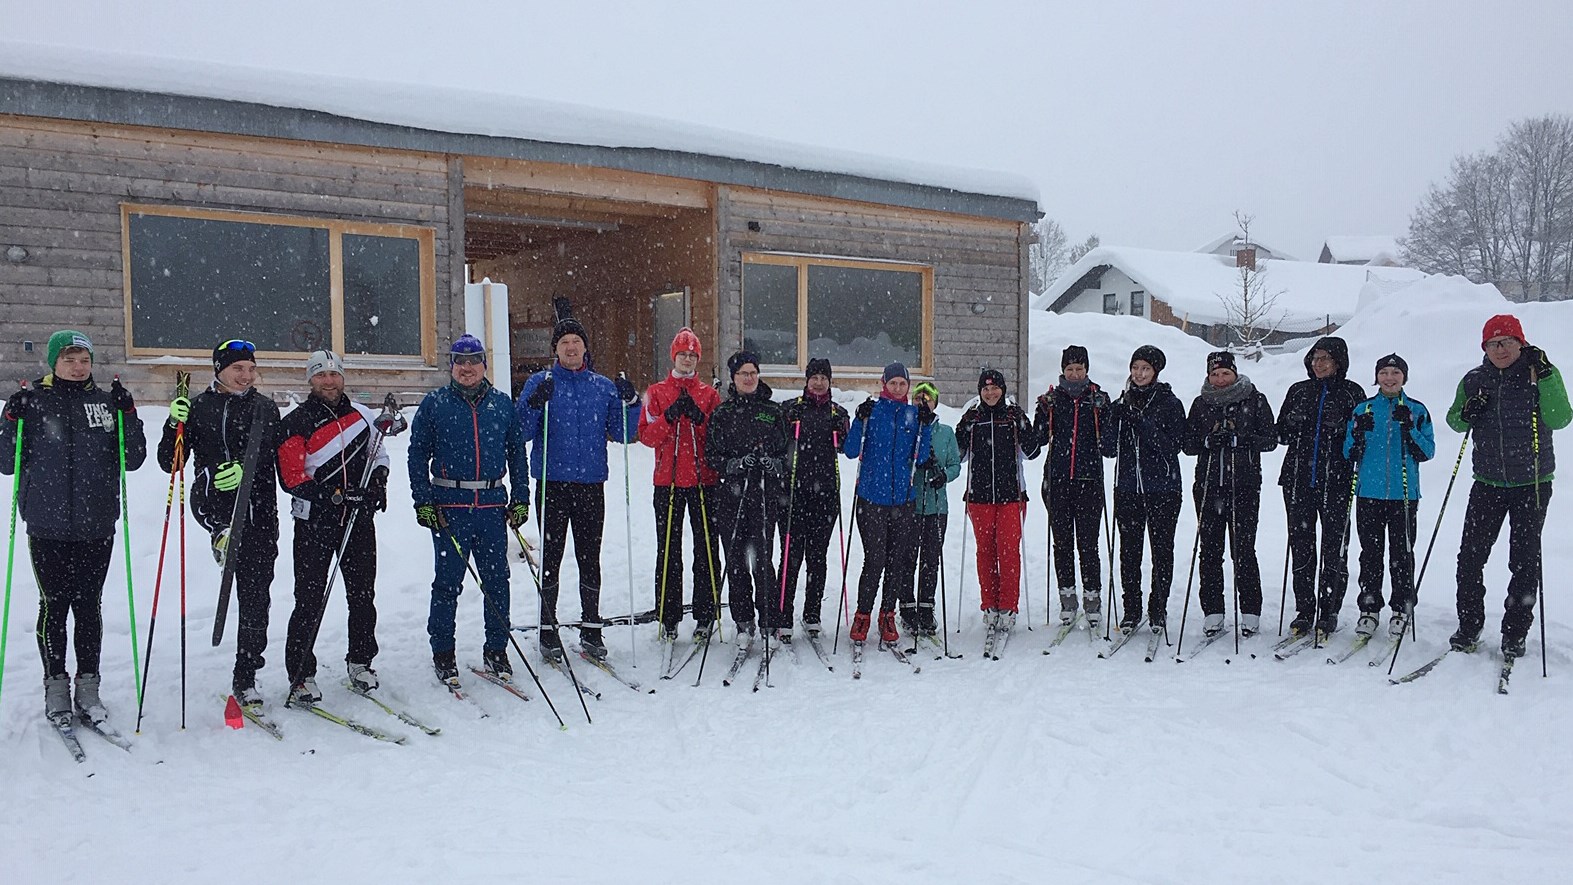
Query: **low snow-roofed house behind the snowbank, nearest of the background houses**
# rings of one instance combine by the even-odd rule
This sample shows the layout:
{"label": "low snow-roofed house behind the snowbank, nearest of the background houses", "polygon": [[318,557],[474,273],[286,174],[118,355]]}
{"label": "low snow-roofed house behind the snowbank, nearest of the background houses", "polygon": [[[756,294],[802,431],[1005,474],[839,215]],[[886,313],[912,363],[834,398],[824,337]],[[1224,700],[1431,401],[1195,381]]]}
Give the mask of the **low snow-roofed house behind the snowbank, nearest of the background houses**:
{"label": "low snow-roofed house behind the snowbank, nearest of the background houses", "polygon": [[[1224,300],[1238,299],[1240,264],[1249,252],[1164,252],[1106,245],[1084,255],[1038,299],[1052,313],[1139,316],[1178,327],[1216,346],[1236,344]],[[1353,267],[1273,258],[1255,264],[1263,288],[1277,294],[1268,346],[1326,335],[1348,322],[1369,286],[1397,286],[1425,277],[1403,267]]]}

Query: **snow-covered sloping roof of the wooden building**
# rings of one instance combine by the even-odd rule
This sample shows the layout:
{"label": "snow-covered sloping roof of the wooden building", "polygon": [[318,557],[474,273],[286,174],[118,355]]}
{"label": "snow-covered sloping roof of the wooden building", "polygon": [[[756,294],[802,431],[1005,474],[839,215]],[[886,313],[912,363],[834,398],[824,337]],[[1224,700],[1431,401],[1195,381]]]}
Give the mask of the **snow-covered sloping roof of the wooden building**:
{"label": "snow-covered sloping roof of the wooden building", "polygon": [[[13,88],[5,88],[3,79],[14,79]],[[22,82],[44,85],[74,85],[98,90],[127,90],[126,97],[90,94],[63,96],[58,91],[22,90]],[[149,94],[151,93],[151,94]],[[252,102],[236,108],[216,105],[192,105],[164,101],[170,96],[197,99],[220,99],[222,102]],[[928,165],[922,162],[878,157],[853,151],[832,151],[812,145],[799,145],[758,135],[728,132],[705,126],[692,126],[642,116],[617,113],[593,107],[551,102],[521,94],[495,94],[459,88],[437,88],[422,83],[365,80],[352,77],[324,77],[288,69],[256,69],[234,64],[204,63],[129,52],[98,52],[79,47],[38,46],[0,39],[0,113],[60,115],[104,123],[145,123],[204,130],[247,130],[247,134],[310,137],[299,132],[269,132],[267,115],[258,115],[255,105],[272,108],[299,108],[322,112],[348,121],[387,124],[371,130],[376,138],[398,138],[400,132],[389,127],[409,127],[406,138],[414,149],[450,149],[451,152],[486,152],[484,137],[491,140],[518,140],[511,145],[492,146],[495,156],[521,156],[546,151],[538,145],[588,146],[595,154],[580,157],[563,154],[557,162],[606,162],[615,168],[656,171],[714,181],[725,178],[727,165],[757,168],[741,170],[742,179],[731,182],[758,187],[793,189],[793,184],[809,184],[807,193],[826,193],[851,200],[876,200],[859,196],[860,182],[898,182],[911,187],[933,189],[939,193],[928,203],[936,211],[956,211],[994,217],[1030,220],[1037,217],[1038,187],[1030,179],[1008,173]],[[55,107],[69,108],[55,112]],[[120,119],[135,116],[137,119]],[[297,115],[299,116],[299,115]],[[142,119],[146,118],[146,119]],[[230,119],[227,119],[230,118]],[[253,119],[261,118],[261,119]],[[351,127],[344,119],[296,119],[280,118],[275,127],[315,126],[343,134]],[[409,132],[403,130],[403,132]],[[420,135],[453,134],[469,137],[462,143],[425,138]],[[357,134],[357,137],[362,134]],[[365,141],[349,141],[365,143]],[[403,143],[389,146],[406,146]],[[532,151],[532,146],[536,146]],[[467,148],[467,149],[455,149]],[[610,149],[610,151],[609,151]],[[609,156],[609,154],[617,156]],[[554,154],[555,157],[555,154]],[[648,168],[647,168],[648,167]],[[799,174],[793,174],[801,170]],[[851,181],[813,182],[815,174],[849,176]],[[865,187],[876,195],[878,187]],[[886,189],[898,190],[898,189]],[[947,193],[975,195],[980,200],[950,200]],[[912,204],[890,200],[893,204]]]}

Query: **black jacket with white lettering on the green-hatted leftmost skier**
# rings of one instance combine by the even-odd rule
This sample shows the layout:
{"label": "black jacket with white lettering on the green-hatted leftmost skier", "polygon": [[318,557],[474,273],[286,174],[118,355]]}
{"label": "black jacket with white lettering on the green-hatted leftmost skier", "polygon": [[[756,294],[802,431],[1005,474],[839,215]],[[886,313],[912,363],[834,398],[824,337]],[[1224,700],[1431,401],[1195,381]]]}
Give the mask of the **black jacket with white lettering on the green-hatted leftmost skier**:
{"label": "black jacket with white lettering on the green-hatted leftmost skier", "polygon": [[[27,533],[50,541],[98,541],[120,519],[120,432],[109,388],[47,374],[33,382],[22,415],[22,478],[17,506]],[[126,412],[126,470],[142,467],[148,440],[142,418]],[[0,418],[0,473],[11,475],[16,421]]]}

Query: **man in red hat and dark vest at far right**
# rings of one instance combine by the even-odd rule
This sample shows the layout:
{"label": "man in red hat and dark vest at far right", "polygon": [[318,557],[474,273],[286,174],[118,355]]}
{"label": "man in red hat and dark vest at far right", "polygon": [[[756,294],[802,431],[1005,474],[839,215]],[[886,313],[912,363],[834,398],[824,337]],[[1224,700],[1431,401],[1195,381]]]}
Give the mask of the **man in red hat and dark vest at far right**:
{"label": "man in red hat and dark vest at far right", "polygon": [[1535,621],[1540,583],[1540,531],[1551,503],[1556,454],[1551,431],[1568,426],[1562,373],[1546,352],[1524,340],[1516,318],[1497,314],[1480,333],[1485,357],[1458,382],[1447,426],[1474,434],[1474,486],[1464,509],[1458,545],[1458,630],[1449,640],[1457,651],[1474,651],[1485,627],[1485,563],[1510,522],[1507,600],[1502,608],[1502,657],[1523,657]]}

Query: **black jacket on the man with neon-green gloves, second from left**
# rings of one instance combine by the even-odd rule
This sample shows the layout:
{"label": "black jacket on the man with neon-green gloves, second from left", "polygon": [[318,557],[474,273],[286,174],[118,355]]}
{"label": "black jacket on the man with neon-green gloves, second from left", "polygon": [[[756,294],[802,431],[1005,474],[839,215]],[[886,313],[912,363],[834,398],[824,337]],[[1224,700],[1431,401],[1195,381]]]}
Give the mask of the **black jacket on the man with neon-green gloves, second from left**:
{"label": "black jacket on the man with neon-green gloves, second from left", "polygon": [[[261,421],[258,424],[258,420]],[[234,514],[234,492],[212,487],[214,470],[227,461],[242,461],[252,429],[260,429],[263,445],[256,453],[258,475],[252,481],[249,525],[271,530],[278,536],[278,407],[266,395],[250,388],[242,395],[204,390],[192,399],[186,420],[186,457],[192,465],[192,516],[209,533],[230,527]],[[168,473],[175,461],[175,424],[164,424],[159,440],[159,467]]]}

